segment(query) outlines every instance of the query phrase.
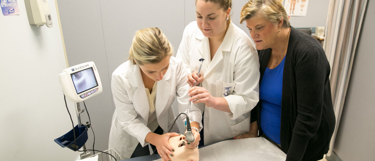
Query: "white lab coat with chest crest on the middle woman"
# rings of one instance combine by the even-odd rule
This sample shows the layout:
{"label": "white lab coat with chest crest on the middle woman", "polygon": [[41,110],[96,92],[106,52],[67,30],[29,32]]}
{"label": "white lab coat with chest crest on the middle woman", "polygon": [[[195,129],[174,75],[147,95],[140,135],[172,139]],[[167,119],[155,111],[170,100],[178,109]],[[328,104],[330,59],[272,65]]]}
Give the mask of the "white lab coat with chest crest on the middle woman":
{"label": "white lab coat with chest crest on the middle woman", "polygon": [[198,71],[198,60],[204,58],[201,86],[214,97],[224,97],[231,110],[231,113],[223,112],[199,104],[199,108],[204,109],[204,144],[247,133],[250,110],[259,101],[260,78],[258,53],[249,36],[231,22],[211,60],[208,37],[204,37],[196,21],[190,22],[176,57],[183,60],[190,72]]}

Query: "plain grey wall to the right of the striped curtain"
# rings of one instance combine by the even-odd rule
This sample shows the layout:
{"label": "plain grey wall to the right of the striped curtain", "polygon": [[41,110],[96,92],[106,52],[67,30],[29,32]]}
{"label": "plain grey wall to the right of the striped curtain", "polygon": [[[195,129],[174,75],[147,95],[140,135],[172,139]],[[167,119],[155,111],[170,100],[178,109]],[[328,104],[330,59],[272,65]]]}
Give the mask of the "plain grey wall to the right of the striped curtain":
{"label": "plain grey wall to the right of the striped curtain", "polygon": [[343,161],[375,160],[375,1],[368,0],[338,128],[335,152]]}

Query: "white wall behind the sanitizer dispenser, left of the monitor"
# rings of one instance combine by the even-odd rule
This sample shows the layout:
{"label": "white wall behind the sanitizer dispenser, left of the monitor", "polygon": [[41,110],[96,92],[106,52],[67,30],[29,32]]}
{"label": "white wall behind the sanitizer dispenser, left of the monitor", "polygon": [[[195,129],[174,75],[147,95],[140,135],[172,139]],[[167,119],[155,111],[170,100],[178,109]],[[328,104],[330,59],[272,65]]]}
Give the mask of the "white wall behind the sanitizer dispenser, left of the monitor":
{"label": "white wall behind the sanitizer dispenser, left of the monitor", "polygon": [[55,1],[48,3],[52,28],[29,25],[23,0],[20,15],[0,14],[0,160],[72,161],[78,155],[54,142],[72,125],[57,79],[66,62]]}

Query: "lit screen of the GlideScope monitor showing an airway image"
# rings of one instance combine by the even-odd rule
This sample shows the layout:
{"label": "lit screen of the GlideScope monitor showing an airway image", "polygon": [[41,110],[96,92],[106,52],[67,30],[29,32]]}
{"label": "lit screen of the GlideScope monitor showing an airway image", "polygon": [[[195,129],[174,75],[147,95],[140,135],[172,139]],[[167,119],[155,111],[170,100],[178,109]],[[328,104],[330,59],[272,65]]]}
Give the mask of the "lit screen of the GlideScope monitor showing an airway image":
{"label": "lit screen of the GlideScope monitor showing an airway image", "polygon": [[71,76],[77,94],[98,86],[92,67],[80,72],[72,73]]}

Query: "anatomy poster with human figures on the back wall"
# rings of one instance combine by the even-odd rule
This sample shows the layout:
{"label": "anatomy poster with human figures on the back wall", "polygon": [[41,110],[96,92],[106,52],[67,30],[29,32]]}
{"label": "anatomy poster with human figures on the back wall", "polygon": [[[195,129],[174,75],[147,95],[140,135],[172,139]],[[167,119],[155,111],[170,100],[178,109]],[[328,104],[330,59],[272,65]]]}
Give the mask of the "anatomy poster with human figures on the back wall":
{"label": "anatomy poster with human figures on the back wall", "polygon": [[309,0],[285,0],[288,16],[306,16]]}

